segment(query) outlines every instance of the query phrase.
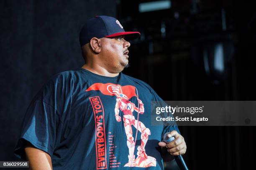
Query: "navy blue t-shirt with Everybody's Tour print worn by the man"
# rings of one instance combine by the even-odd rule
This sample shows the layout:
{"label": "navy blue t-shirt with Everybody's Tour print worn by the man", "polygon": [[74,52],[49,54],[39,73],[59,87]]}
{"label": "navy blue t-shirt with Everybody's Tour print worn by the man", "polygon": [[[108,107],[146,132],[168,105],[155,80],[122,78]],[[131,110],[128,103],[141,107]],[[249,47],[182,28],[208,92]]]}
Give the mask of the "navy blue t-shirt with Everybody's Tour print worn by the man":
{"label": "navy blue t-shirt with Everybody's Tour print worn by the man", "polygon": [[162,135],[177,125],[152,126],[145,82],[120,73],[105,77],[79,68],[49,80],[31,102],[15,155],[24,141],[51,155],[54,170],[163,168]]}

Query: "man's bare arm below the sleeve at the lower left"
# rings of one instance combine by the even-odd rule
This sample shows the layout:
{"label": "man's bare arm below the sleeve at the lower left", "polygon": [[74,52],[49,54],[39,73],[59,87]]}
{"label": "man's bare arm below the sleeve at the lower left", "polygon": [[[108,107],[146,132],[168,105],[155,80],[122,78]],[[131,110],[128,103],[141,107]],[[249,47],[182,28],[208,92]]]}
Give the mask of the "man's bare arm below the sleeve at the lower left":
{"label": "man's bare arm below the sleeve at the lower left", "polygon": [[48,153],[35,148],[31,143],[25,146],[25,153],[30,170],[52,170],[51,156]]}

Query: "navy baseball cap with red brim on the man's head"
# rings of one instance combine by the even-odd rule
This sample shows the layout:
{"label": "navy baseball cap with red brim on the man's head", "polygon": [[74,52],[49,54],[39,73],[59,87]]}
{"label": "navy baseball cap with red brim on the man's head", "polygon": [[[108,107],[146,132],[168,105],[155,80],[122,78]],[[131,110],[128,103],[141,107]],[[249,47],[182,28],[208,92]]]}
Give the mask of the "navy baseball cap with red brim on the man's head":
{"label": "navy baseball cap with red brim on the man's head", "polygon": [[125,32],[120,22],[109,16],[96,16],[84,24],[80,31],[79,40],[81,47],[92,37],[116,37],[125,35],[125,40],[133,40],[141,35],[140,32]]}

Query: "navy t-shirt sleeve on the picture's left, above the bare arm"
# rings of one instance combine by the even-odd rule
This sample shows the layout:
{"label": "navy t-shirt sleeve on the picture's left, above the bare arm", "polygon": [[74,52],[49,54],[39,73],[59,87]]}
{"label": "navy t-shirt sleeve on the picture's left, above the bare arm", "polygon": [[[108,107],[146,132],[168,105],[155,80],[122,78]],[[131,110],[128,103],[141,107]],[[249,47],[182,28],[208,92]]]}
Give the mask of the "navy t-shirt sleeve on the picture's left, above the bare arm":
{"label": "navy t-shirt sleeve on the picture's left, above the bare arm", "polygon": [[41,100],[32,102],[23,120],[20,138],[14,150],[15,155],[21,159],[26,158],[26,141],[52,155],[59,123],[59,115],[54,107]]}

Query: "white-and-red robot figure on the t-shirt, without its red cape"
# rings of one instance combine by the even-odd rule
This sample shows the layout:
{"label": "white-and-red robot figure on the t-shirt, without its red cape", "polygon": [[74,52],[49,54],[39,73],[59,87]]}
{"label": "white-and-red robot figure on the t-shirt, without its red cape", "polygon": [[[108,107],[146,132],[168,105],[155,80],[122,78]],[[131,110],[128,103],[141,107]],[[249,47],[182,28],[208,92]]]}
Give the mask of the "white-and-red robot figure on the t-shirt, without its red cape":
{"label": "white-and-red robot figure on the t-shirt, without its red cape", "polygon": [[[117,122],[121,121],[119,111],[123,112],[123,122],[125,133],[127,136],[127,146],[129,150],[128,163],[124,166],[129,167],[150,167],[156,166],[156,159],[154,157],[148,156],[146,154],[145,146],[148,141],[148,135],[150,135],[150,130],[139,120],[136,120],[133,116],[133,111],[138,112],[138,114],[144,113],[143,102],[138,99],[139,108],[136,105],[129,101],[129,98],[123,94],[122,88],[120,85],[110,85],[108,86],[108,91],[116,96],[115,104],[115,119]],[[137,158],[135,159],[134,150],[135,150],[135,141],[133,138],[132,126],[136,128],[137,131],[141,133],[141,145],[137,148]]]}

